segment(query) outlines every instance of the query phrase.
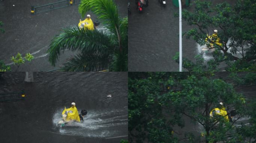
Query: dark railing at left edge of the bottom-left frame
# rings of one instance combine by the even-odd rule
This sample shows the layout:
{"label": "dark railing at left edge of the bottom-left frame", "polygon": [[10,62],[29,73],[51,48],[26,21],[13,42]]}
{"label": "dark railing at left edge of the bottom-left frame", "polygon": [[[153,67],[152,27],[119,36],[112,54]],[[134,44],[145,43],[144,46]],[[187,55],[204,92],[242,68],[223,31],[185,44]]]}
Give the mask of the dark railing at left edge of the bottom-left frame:
{"label": "dark railing at left edge of the bottom-left frame", "polygon": [[20,99],[25,99],[25,92],[23,89],[21,90],[21,92],[0,93],[0,102]]}

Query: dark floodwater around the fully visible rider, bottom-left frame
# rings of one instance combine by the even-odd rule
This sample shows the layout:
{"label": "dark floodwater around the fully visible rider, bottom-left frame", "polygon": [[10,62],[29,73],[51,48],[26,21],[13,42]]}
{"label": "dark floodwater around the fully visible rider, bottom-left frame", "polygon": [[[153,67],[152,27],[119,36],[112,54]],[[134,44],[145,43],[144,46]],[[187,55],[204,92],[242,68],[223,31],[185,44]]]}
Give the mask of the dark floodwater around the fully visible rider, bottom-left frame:
{"label": "dark floodwater around the fully visible rider, bottom-left frame", "polygon": [[[0,93],[25,90],[25,100],[0,102],[2,142],[114,143],[128,136],[127,73],[4,73]],[[112,97],[107,97],[112,95]],[[64,107],[86,109],[83,123],[58,127]]]}

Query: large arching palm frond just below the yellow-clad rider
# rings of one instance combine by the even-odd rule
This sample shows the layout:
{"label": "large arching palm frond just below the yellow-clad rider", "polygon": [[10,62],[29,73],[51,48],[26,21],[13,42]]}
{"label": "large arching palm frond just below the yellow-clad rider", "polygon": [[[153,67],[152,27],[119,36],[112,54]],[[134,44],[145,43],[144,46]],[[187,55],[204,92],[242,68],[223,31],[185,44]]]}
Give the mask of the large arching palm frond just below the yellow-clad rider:
{"label": "large arching palm frond just below the yellow-clad rider", "polygon": [[110,37],[103,31],[79,28],[66,28],[60,35],[52,39],[48,49],[49,61],[53,66],[64,50],[81,51],[82,53],[109,53],[113,49]]}

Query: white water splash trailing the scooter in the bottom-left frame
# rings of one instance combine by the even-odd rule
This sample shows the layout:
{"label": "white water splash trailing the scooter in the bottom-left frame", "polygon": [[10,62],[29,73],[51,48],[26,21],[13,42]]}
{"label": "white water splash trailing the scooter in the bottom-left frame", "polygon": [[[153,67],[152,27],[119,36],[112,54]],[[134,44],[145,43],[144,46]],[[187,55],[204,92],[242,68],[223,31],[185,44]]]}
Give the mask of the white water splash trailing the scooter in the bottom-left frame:
{"label": "white water splash trailing the scooter in the bottom-left frame", "polygon": [[58,127],[61,120],[62,109],[56,110],[52,123],[54,129],[60,134],[79,135],[83,137],[110,137],[119,134],[113,127],[127,127],[128,117],[122,109],[88,111],[83,118],[83,123],[66,124],[64,127]]}

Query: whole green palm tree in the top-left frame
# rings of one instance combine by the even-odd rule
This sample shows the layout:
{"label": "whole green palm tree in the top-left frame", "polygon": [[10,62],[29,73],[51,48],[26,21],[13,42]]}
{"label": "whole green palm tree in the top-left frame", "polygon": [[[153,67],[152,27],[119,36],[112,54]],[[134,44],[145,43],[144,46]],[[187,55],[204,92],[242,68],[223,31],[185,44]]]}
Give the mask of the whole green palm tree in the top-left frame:
{"label": "whole green palm tree in the top-left frame", "polygon": [[64,50],[78,51],[68,59],[64,71],[127,71],[128,18],[121,18],[113,0],[82,0],[79,12],[91,10],[106,25],[107,30],[71,27],[63,29],[52,39],[48,49],[49,61],[55,66]]}

